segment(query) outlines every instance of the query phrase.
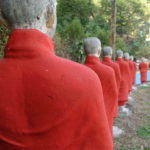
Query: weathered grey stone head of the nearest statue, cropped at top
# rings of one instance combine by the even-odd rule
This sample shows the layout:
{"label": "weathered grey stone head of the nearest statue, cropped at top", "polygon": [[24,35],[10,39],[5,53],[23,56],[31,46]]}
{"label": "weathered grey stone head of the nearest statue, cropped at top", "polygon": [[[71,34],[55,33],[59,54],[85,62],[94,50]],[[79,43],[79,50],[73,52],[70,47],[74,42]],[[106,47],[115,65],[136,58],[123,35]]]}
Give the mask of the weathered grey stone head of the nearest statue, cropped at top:
{"label": "weathered grey stone head of the nearest statue, cropped at top", "polygon": [[0,0],[0,22],[11,29],[38,29],[54,36],[56,0]]}

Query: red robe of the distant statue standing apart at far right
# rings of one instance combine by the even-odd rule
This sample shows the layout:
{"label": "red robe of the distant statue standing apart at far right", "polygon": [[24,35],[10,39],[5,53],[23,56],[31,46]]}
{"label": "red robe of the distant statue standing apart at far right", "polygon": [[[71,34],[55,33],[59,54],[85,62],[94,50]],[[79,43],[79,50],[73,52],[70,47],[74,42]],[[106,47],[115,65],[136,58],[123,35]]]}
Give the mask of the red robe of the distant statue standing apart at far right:
{"label": "red robe of the distant statue standing apart at far right", "polygon": [[142,83],[147,82],[148,65],[145,62],[141,62],[139,69],[140,69],[140,74],[141,74],[141,82]]}

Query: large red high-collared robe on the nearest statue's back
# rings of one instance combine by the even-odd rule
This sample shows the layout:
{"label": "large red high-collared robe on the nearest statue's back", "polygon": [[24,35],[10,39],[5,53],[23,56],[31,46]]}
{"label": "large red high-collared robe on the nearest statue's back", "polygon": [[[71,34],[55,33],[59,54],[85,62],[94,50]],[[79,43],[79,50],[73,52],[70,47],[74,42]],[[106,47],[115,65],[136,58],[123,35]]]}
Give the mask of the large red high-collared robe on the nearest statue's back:
{"label": "large red high-collared robe on the nearest statue's back", "polygon": [[0,60],[0,150],[112,150],[102,88],[54,54],[38,30],[14,30]]}

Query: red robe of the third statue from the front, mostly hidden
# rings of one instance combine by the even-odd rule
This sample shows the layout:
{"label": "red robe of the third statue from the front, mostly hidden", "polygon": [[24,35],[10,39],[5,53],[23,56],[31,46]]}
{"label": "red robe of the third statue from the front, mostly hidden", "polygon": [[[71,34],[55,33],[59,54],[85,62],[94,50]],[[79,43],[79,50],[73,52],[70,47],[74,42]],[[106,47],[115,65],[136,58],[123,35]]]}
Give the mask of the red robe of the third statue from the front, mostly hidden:
{"label": "red robe of the third statue from the front, mostly hidden", "polygon": [[[120,81],[121,81],[121,73],[120,73],[119,65],[117,63],[113,62],[110,57],[104,57],[102,63],[111,67],[114,70],[117,89],[118,89],[117,95],[119,96],[119,88],[120,88]],[[119,99],[117,99],[117,101],[119,102]],[[116,117],[118,117],[118,111],[117,110],[116,110]]]}

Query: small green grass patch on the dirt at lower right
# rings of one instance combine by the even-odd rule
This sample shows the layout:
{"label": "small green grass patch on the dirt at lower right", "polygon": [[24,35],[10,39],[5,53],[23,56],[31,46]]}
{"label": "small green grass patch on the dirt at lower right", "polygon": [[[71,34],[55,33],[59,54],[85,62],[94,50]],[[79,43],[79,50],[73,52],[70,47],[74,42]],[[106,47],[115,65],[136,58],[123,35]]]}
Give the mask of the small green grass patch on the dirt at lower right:
{"label": "small green grass patch on the dirt at lower right", "polygon": [[150,138],[150,125],[138,128],[137,135],[141,138]]}

